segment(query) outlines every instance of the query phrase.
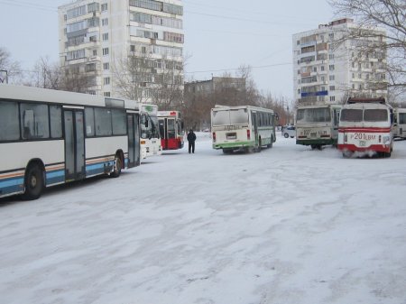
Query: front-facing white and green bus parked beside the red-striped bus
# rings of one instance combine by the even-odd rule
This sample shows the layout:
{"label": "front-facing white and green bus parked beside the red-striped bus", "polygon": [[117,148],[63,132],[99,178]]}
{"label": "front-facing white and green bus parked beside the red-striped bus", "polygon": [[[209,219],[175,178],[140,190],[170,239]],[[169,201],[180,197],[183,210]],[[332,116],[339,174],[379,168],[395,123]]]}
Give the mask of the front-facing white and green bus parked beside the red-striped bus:
{"label": "front-facing white and green bus parked beside the red-striped bus", "polygon": [[313,105],[296,108],[296,144],[321,149],[337,146],[338,122],[342,105]]}

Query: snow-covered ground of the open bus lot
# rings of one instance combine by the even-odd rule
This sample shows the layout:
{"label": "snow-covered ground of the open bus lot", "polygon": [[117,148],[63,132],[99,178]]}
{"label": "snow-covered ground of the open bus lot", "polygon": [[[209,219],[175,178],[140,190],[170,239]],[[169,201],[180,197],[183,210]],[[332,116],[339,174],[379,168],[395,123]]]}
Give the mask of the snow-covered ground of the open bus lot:
{"label": "snow-covered ground of the open bus lot", "polygon": [[198,134],[119,179],[0,200],[0,303],[406,304],[406,141],[343,159]]}

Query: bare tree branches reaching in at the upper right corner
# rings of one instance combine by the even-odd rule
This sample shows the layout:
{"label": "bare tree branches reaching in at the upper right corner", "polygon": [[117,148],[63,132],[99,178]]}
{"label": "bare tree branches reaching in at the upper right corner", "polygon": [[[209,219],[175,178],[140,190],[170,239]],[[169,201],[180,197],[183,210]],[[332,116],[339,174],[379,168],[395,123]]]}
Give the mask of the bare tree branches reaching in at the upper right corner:
{"label": "bare tree branches reaching in at the upper right corner", "polygon": [[[389,77],[392,89],[406,92],[406,2],[404,0],[328,0],[337,14],[354,16],[356,29],[347,32],[345,39],[354,41],[374,38],[376,43],[357,45],[361,56],[383,59],[382,69]],[[376,27],[385,32],[373,31]],[[375,79],[376,84],[381,83]]]}

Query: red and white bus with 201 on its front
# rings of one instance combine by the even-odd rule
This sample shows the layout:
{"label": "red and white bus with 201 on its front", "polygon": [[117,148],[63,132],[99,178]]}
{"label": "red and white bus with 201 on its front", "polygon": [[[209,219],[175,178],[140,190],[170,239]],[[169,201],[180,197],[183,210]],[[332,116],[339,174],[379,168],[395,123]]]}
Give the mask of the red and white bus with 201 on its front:
{"label": "red and white bus with 201 on its front", "polygon": [[355,152],[390,157],[393,147],[392,106],[384,98],[349,98],[341,109],[338,149],[344,157]]}

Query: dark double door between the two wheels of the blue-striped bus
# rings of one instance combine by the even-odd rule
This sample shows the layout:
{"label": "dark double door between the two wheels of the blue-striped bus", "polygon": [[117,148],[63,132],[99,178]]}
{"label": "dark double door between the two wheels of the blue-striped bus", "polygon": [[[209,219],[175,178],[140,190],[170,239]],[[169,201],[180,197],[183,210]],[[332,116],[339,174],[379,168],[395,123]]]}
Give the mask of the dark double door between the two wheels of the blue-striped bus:
{"label": "dark double door between the two wheels of the blue-striped bus", "polygon": [[82,180],[85,170],[85,133],[83,110],[65,109],[65,180]]}

